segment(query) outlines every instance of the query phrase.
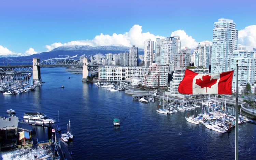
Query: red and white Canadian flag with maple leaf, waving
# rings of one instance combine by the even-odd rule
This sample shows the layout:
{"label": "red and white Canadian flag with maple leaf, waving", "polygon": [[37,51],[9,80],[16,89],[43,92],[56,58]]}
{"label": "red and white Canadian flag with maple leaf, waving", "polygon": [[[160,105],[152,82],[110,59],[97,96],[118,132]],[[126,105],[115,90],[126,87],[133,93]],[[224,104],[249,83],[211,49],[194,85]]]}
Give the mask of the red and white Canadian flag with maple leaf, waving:
{"label": "red and white Canadian flag with maple leaf, waving", "polygon": [[178,91],[183,94],[232,94],[233,73],[199,74],[186,69]]}

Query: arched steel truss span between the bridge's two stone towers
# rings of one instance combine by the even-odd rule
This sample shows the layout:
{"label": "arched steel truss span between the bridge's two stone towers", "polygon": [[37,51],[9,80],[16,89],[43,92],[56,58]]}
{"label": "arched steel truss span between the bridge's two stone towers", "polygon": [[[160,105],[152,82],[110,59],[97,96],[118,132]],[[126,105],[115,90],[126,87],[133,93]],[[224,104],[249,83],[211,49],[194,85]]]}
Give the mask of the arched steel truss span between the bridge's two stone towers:
{"label": "arched steel truss span between the bridge's two stone towers", "polygon": [[70,58],[52,58],[43,60],[38,66],[83,66],[80,61]]}

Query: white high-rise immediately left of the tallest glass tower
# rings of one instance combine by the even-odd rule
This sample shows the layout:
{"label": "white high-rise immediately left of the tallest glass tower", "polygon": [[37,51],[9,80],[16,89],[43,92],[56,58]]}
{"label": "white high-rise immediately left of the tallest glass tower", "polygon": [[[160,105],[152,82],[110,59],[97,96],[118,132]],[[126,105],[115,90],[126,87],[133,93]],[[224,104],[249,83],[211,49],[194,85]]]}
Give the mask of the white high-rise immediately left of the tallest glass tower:
{"label": "white high-rise immediately left of the tallest glass tower", "polygon": [[195,67],[209,68],[211,50],[210,42],[199,42],[191,55],[190,63],[194,63]]}

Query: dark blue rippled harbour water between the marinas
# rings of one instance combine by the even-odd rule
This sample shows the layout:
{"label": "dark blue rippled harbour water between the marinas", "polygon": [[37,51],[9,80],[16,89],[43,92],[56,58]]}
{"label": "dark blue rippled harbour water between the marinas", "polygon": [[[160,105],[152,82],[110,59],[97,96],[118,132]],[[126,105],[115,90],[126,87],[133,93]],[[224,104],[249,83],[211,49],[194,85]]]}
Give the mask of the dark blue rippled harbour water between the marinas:
{"label": "dark blue rippled harbour water between the marinas", "polygon": [[[81,74],[65,68],[41,68],[42,86],[33,92],[0,94],[0,116],[12,107],[22,119],[25,112],[43,112],[67,123],[75,135],[67,144],[73,159],[234,159],[235,130],[218,133],[185,120],[187,112],[162,115],[159,102],[141,103],[124,91],[111,92],[83,83]],[[70,77],[70,79],[68,78]],[[61,88],[64,85],[65,88]],[[201,109],[188,111],[189,115]],[[120,119],[120,127],[113,126]],[[239,159],[256,158],[256,125],[238,128]]]}

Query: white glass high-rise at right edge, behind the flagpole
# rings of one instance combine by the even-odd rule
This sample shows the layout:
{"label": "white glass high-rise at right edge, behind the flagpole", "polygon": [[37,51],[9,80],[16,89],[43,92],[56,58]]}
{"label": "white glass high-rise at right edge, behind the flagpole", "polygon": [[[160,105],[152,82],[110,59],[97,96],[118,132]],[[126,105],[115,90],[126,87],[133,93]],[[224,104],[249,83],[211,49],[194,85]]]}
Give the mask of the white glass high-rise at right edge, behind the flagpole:
{"label": "white glass high-rise at right edge, behind the flagpole", "polygon": [[[238,94],[243,94],[246,84],[253,86],[256,81],[256,49],[251,46],[238,46],[230,59],[230,70],[236,70],[236,64],[238,64]],[[236,74],[237,72],[233,74],[233,93],[236,92]]]}

